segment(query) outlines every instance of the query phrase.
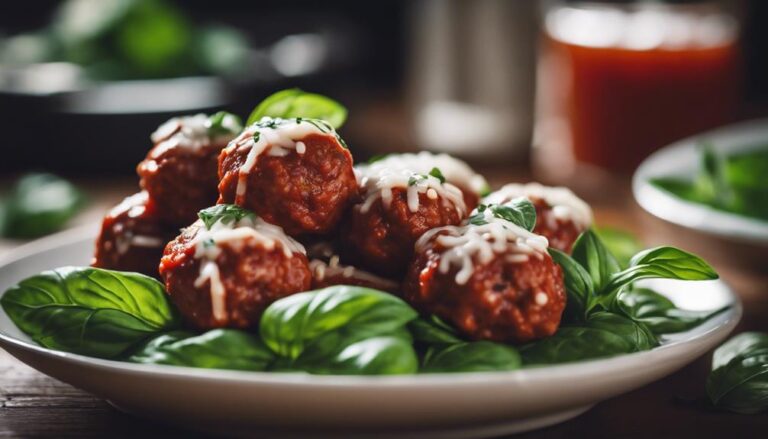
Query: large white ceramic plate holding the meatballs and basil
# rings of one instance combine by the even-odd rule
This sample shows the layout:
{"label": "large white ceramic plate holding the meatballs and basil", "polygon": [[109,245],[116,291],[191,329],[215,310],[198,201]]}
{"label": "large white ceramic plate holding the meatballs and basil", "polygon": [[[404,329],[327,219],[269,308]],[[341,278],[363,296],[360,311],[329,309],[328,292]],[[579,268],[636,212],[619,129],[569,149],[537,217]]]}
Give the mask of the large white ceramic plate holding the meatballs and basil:
{"label": "large white ceramic plate holding the meatballs and basil", "polygon": [[[94,229],[30,244],[0,262],[0,291],[87,264]],[[139,416],[218,434],[484,437],[562,422],[680,369],[720,343],[741,304],[719,281],[655,282],[679,306],[731,308],[652,351],[496,373],[400,377],[236,372],[99,360],[41,348],[0,311],[0,346],[33,368]]]}

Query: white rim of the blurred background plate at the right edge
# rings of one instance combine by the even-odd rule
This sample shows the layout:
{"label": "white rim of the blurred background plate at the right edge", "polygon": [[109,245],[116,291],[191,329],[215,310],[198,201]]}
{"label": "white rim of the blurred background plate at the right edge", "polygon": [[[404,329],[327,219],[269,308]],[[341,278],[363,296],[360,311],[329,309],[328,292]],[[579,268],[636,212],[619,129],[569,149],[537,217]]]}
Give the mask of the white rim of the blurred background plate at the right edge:
{"label": "white rim of the blurred background plate at the right edge", "polygon": [[[678,198],[673,194],[657,188],[650,183],[654,175],[654,165],[670,154],[680,154],[682,151],[695,148],[696,142],[710,137],[731,137],[733,133],[765,132],[768,138],[768,118],[751,119],[729,124],[703,133],[686,137],[670,143],[648,156],[635,170],[632,176],[632,194],[637,204],[650,213],[671,224],[684,227],[709,235],[726,238],[732,241],[768,244],[768,221],[737,215],[714,209],[692,201]],[[740,151],[749,151],[761,145],[735,144]],[[694,215],[691,215],[694,214]],[[706,218],[709,221],[697,223],[688,218]],[[719,221],[718,221],[719,220]],[[713,226],[713,223],[726,222],[735,224],[734,227]],[[750,230],[752,230],[750,232]]]}

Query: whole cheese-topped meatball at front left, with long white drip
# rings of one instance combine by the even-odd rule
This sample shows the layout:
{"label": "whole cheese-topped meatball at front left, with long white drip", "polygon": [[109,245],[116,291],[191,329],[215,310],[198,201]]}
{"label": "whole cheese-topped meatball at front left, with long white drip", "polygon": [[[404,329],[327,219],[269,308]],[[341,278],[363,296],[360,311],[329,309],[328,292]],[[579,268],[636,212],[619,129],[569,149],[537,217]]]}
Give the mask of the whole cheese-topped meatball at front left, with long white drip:
{"label": "whole cheese-topped meatball at front left, with long white drip", "polygon": [[311,285],[301,244],[252,214],[195,222],[166,246],[160,274],[199,329],[255,328],[272,302]]}

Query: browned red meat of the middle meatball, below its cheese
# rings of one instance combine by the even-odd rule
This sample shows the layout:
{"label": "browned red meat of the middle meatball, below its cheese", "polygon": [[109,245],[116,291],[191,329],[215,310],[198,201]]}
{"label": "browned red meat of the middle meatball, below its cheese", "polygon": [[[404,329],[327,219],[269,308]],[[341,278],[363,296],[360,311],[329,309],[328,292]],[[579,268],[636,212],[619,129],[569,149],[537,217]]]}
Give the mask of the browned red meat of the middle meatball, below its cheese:
{"label": "browned red meat of the middle meatball, below its cheese", "polygon": [[429,229],[457,225],[464,219],[464,207],[442,197],[419,194],[419,206],[411,211],[407,189],[393,188],[387,206],[378,199],[368,209],[355,205],[349,227],[342,234],[350,260],[375,273],[400,277],[413,256],[413,245]]}

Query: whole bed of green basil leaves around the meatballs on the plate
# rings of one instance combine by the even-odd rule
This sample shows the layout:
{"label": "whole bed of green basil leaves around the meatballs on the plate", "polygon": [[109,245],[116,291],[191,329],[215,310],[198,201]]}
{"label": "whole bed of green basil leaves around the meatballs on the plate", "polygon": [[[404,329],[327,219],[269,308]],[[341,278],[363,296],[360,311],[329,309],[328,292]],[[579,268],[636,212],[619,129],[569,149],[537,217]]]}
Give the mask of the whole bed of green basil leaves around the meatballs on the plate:
{"label": "whole bed of green basil leaves around the meatballs on the plate", "polygon": [[521,346],[465,340],[394,295],[355,286],[278,300],[257,331],[190,331],[157,280],[90,267],[29,277],[0,304],[21,331],[51,349],[136,363],[338,375],[508,371],[608,357],[652,349],[663,334],[722,311],[679,309],[633,287],[645,278],[717,278],[682,250],[648,249],[620,264],[587,231],[572,256],[551,254],[565,276],[563,322],[553,336]]}

